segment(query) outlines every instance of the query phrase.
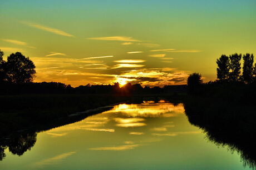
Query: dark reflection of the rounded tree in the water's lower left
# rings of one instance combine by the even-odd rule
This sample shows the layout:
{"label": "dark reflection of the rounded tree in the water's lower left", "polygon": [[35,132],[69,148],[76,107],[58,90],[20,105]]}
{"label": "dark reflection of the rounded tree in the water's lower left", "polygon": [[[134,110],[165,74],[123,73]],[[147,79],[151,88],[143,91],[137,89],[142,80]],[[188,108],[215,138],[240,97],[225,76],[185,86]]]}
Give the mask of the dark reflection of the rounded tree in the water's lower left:
{"label": "dark reflection of the rounded tree in the water's lower left", "polygon": [[36,143],[36,133],[17,134],[10,139],[1,143],[0,146],[0,161],[6,156],[4,149],[7,147],[12,154],[21,156],[27,150],[30,150]]}

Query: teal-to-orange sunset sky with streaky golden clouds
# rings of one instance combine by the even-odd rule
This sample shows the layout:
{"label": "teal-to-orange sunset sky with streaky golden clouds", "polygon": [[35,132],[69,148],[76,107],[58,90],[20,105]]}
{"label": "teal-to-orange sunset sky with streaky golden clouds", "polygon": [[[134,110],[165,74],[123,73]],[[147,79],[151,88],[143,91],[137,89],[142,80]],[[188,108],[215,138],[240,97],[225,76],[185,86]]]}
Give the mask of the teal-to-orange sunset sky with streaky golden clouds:
{"label": "teal-to-orange sunset sky with streaky golden clouds", "polygon": [[22,52],[34,82],[73,87],[207,82],[221,54],[256,53],[256,1],[0,0],[0,25],[5,59]]}

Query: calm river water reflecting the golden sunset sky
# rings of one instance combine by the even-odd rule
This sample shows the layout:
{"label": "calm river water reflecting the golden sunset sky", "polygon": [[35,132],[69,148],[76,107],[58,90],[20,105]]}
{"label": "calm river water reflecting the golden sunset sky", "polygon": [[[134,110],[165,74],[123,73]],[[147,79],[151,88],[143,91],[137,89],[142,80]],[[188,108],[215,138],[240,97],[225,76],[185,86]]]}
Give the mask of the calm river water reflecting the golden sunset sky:
{"label": "calm river water reflecting the golden sunset sky", "polygon": [[7,148],[0,169],[249,169],[191,126],[183,104],[119,104],[36,138],[22,156]]}

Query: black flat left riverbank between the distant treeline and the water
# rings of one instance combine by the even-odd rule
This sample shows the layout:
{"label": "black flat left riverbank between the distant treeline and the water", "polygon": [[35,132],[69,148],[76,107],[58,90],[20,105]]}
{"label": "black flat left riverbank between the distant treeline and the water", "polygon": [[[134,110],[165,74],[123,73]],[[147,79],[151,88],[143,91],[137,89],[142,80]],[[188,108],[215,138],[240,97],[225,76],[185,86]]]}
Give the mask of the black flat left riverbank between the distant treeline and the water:
{"label": "black flat left riverbank between the distant treeline and the water", "polygon": [[[111,94],[24,94],[0,96],[0,135],[21,129],[38,126],[53,128],[63,124],[79,121],[96,112],[88,112],[80,116],[72,116],[76,112],[84,112],[111,104],[142,103],[144,100],[160,100],[181,102],[185,93],[150,94],[120,96]],[[98,111],[99,112],[99,111]]]}

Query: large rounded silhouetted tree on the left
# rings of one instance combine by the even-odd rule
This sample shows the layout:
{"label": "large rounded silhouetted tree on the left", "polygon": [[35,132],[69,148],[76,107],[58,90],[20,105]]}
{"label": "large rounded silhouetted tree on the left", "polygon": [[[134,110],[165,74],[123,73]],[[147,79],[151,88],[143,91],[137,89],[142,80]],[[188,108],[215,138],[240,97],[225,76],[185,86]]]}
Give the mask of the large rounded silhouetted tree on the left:
{"label": "large rounded silhouetted tree on the left", "polygon": [[35,77],[35,64],[20,52],[12,53],[6,62],[8,80],[13,83],[29,83]]}

